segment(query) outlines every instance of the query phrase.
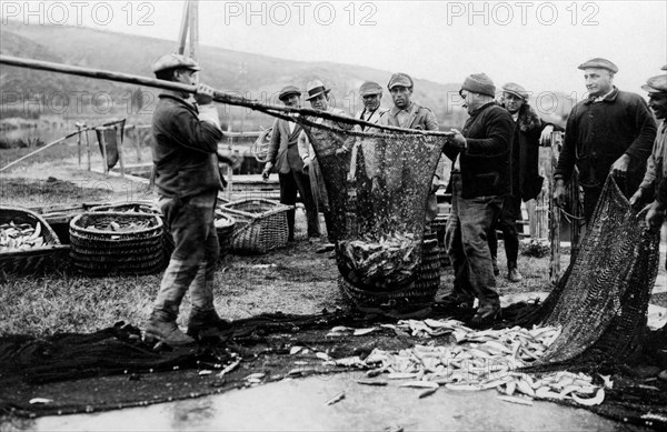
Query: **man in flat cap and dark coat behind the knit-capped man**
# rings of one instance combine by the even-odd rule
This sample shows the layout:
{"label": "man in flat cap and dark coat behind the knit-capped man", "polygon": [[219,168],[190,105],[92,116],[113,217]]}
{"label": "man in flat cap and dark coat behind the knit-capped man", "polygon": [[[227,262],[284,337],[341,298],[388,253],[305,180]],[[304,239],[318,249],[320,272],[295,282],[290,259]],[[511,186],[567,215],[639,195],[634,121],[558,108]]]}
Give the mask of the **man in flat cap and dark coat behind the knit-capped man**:
{"label": "man in flat cap and dark coat behind the knit-capped man", "polygon": [[519,282],[521,273],[517,267],[519,255],[519,233],[517,220],[522,219],[521,200],[528,202],[541,191],[544,179],[538,173],[539,145],[549,143],[554,129],[563,130],[542,121],[528,104],[528,91],[515,83],[502,86],[501,106],[511,114],[515,122],[510,158],[511,192],[505,195],[502,211],[489,231],[489,247],[494,263],[494,274],[500,273],[497,263],[498,238],[496,229],[502,231],[505,254],[507,255],[507,279]]}

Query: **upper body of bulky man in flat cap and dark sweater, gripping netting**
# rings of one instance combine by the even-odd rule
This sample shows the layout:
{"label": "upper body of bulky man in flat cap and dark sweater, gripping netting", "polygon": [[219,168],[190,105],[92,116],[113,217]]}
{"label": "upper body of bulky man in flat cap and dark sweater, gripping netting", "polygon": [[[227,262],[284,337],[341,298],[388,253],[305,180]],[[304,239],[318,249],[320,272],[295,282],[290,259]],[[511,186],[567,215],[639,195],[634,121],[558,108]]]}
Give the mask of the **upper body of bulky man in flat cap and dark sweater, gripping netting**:
{"label": "upper body of bulky man in flat cap and dark sweater, gripping netting", "polygon": [[579,64],[588,99],[570,111],[565,142],[554,172],[556,205],[566,204],[565,184],[575,165],[584,188],[584,219],[590,221],[607,175],[630,197],[639,187],[656,138],[656,123],[644,99],[614,86],[616,64],[591,59]]}

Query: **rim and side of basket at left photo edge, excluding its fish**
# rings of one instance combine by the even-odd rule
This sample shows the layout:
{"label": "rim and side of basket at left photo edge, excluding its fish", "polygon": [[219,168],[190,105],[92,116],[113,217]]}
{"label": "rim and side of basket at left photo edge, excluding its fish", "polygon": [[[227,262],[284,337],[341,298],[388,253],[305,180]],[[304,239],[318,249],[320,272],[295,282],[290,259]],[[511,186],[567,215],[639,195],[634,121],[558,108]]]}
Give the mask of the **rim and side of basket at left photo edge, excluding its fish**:
{"label": "rim and side of basket at left photo edge, excluding its fish", "polygon": [[0,207],[0,224],[12,222],[41,224],[43,244],[28,250],[0,251],[0,271],[8,274],[24,274],[43,271],[48,264],[67,259],[68,245],[60,244],[58,235],[39,214],[27,209]]}

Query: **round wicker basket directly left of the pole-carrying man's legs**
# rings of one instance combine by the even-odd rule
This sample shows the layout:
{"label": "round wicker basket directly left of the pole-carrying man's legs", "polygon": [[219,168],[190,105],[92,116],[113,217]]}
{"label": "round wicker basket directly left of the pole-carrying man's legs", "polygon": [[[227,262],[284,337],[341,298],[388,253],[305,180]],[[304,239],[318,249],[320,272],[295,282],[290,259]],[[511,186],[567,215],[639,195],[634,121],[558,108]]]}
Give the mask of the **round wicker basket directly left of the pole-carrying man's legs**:
{"label": "round wicker basket directly left of the pole-carrying man's legs", "polygon": [[[93,223],[139,222],[148,227],[131,231],[98,230]],[[74,268],[89,275],[151,274],[163,267],[162,220],[157,214],[88,212],[70,222]]]}

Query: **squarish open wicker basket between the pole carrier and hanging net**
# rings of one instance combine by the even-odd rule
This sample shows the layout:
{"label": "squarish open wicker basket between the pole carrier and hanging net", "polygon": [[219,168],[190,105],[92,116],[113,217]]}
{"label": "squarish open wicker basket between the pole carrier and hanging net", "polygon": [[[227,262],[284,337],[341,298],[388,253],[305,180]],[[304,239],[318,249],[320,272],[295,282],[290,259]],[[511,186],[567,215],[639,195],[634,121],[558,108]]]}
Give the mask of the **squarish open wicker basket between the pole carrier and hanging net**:
{"label": "squarish open wicker basket between the pole carrier and hanging net", "polygon": [[255,199],[230,202],[220,210],[236,219],[231,250],[266,253],[287,245],[287,211],[290,205]]}

